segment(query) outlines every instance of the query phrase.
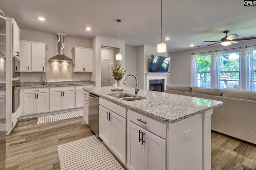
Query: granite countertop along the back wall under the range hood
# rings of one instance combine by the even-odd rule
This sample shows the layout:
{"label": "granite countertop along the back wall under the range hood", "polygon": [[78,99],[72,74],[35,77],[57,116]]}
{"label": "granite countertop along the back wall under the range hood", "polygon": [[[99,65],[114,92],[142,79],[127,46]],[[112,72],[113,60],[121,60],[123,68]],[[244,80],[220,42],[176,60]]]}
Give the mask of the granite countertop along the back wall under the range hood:
{"label": "granite countertop along the back wall under the range hood", "polygon": [[48,87],[64,87],[64,86],[87,86],[95,85],[94,81],[62,81],[62,82],[23,82],[20,83],[22,88],[48,88]]}

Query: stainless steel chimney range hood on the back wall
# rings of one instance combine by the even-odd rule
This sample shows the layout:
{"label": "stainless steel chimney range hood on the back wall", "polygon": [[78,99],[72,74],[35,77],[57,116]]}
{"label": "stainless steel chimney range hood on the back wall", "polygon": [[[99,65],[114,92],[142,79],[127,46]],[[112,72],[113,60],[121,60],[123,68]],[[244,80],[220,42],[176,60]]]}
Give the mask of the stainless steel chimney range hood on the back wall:
{"label": "stainless steel chimney range hood on the back wall", "polygon": [[65,47],[65,34],[57,33],[57,55],[50,58],[48,61],[60,61],[60,62],[72,62],[74,60],[68,58],[64,55],[64,47]]}

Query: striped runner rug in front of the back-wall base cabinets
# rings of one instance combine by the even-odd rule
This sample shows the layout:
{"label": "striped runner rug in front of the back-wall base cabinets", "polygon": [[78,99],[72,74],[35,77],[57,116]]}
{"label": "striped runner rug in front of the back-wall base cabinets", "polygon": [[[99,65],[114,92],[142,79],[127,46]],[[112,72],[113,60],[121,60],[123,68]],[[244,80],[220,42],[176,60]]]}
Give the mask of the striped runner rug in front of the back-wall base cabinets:
{"label": "striped runner rug in front of the back-wall base cabinets", "polygon": [[58,120],[64,120],[64,119],[70,119],[73,117],[81,117],[83,115],[84,115],[84,110],[75,110],[75,111],[68,111],[68,112],[64,112],[64,113],[55,113],[52,115],[39,116],[37,124],[49,123],[52,121],[58,121]]}

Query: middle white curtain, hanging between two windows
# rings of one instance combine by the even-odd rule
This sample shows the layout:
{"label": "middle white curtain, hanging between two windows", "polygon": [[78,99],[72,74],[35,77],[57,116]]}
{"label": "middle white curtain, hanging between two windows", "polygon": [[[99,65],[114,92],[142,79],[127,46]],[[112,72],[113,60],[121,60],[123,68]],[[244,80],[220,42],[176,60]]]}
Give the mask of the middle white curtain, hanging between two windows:
{"label": "middle white curtain, hanging between two windows", "polygon": [[220,88],[220,51],[212,52],[211,88]]}

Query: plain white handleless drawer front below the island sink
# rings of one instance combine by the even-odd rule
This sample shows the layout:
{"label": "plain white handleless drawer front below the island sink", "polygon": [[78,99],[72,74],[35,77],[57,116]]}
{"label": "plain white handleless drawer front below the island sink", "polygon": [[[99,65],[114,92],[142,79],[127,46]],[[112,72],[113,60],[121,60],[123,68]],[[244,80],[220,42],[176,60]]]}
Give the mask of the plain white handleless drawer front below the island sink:
{"label": "plain white handleless drawer front below the island sink", "polygon": [[100,106],[106,107],[107,109],[115,112],[116,114],[126,118],[126,107],[120,106],[102,98],[100,98]]}

